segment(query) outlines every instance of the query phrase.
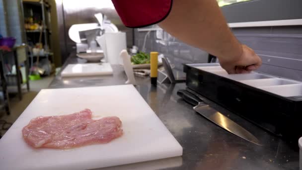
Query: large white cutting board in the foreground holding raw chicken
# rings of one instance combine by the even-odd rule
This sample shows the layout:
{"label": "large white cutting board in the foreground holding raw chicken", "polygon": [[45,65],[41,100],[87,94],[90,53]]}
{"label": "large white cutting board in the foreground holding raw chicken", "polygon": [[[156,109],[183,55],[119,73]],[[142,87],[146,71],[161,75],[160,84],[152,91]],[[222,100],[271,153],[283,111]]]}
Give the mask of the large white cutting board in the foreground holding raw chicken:
{"label": "large white cutting board in the foreground holding raw chicken", "polygon": [[[22,128],[37,116],[89,108],[93,117],[118,116],[123,136],[68,151],[32,149]],[[133,85],[43,89],[0,139],[1,170],[84,170],[182,155],[182,147]]]}

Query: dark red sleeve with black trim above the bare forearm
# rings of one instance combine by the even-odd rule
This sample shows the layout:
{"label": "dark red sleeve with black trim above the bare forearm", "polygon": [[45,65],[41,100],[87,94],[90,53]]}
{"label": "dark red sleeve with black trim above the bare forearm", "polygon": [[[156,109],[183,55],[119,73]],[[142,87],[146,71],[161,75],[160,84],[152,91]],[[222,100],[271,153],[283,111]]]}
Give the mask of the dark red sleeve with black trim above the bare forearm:
{"label": "dark red sleeve with black trim above the bare forearm", "polygon": [[170,12],[172,0],[112,0],[117,13],[127,27],[155,24]]}

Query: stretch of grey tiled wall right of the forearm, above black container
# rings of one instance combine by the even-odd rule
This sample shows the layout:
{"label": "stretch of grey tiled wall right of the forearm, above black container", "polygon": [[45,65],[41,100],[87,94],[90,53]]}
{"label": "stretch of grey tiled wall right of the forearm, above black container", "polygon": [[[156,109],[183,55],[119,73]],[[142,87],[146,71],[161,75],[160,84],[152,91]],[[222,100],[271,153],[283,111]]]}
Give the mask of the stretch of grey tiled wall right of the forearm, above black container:
{"label": "stretch of grey tiled wall right of the forearm, above black container", "polygon": [[232,28],[262,58],[259,72],[302,81],[302,26]]}

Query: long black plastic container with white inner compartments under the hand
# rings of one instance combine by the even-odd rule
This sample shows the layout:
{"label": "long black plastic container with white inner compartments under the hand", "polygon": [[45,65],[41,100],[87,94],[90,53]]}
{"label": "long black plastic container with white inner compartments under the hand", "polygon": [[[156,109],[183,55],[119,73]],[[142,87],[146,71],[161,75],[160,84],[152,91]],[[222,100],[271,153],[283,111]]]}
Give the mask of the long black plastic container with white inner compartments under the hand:
{"label": "long black plastic container with white inner compartments under the hand", "polygon": [[[291,140],[302,136],[301,82],[258,73],[232,76],[215,67],[219,68],[219,64],[184,65],[186,85],[278,136]],[[257,81],[266,85],[247,85]],[[272,82],[278,85],[267,85]]]}

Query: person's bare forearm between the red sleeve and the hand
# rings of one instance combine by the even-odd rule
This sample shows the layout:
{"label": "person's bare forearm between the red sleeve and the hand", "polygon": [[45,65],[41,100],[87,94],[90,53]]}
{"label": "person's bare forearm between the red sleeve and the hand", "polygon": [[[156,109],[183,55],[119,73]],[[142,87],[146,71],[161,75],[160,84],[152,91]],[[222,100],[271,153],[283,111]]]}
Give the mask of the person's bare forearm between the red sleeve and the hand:
{"label": "person's bare forearm between the red sleeve and the hand", "polygon": [[170,14],[159,26],[220,60],[233,61],[242,54],[216,0],[173,0]]}

